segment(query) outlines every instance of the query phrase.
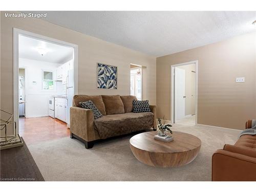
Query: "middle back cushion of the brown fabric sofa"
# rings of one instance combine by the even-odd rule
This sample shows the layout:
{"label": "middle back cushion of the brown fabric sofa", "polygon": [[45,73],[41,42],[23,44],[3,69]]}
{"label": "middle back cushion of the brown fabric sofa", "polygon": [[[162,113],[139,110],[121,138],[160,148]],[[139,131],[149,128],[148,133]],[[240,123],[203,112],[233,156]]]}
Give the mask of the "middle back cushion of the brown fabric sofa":
{"label": "middle back cushion of the brown fabric sofa", "polygon": [[102,95],[106,115],[124,113],[123,102],[120,95]]}

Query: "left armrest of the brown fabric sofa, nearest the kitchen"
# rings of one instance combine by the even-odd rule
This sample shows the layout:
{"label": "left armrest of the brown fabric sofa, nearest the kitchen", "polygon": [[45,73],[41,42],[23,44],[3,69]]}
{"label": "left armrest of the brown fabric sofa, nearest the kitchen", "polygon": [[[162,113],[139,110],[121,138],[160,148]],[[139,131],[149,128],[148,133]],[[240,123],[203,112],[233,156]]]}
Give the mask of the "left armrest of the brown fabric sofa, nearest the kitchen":
{"label": "left armrest of the brown fabric sofa, nearest the kitchen", "polygon": [[92,110],[72,106],[70,108],[70,132],[86,141],[97,140]]}

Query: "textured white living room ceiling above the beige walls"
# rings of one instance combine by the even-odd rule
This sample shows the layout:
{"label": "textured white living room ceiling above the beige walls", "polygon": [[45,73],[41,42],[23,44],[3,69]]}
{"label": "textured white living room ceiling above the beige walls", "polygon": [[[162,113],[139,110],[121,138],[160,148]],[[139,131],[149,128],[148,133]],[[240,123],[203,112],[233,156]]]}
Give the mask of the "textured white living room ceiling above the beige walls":
{"label": "textured white living room ceiling above the beige walls", "polygon": [[256,12],[48,11],[46,20],[136,51],[162,56],[252,32]]}

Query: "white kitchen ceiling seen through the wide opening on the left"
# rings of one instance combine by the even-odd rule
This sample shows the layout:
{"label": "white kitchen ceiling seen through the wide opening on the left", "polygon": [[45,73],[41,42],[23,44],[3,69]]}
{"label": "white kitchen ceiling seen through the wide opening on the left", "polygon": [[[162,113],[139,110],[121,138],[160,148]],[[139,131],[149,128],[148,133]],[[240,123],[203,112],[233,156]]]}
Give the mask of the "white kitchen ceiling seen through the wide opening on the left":
{"label": "white kitchen ceiling seen through the wide opening on the left", "polygon": [[[41,55],[38,49],[48,52]],[[45,62],[64,63],[73,57],[73,48],[19,35],[19,57]]]}

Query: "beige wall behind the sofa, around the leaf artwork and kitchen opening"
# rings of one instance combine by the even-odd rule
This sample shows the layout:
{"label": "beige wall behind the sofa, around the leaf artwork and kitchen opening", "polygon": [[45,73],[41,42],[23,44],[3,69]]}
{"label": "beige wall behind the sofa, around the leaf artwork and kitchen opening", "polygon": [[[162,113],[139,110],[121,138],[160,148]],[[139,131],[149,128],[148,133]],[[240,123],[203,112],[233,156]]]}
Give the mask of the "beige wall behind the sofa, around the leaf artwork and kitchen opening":
{"label": "beige wall behind the sofa, around the leaf artwork and kitchen opening", "polygon": [[[34,18],[6,18],[1,13],[1,104],[3,109],[13,109],[13,28],[56,38],[78,45],[78,94],[129,95],[130,63],[146,67],[144,99],[156,104],[156,57],[142,54],[110,42],[103,41],[45,20]],[[117,90],[97,89],[96,63],[118,67]],[[3,92],[5,90],[5,92]]]}

